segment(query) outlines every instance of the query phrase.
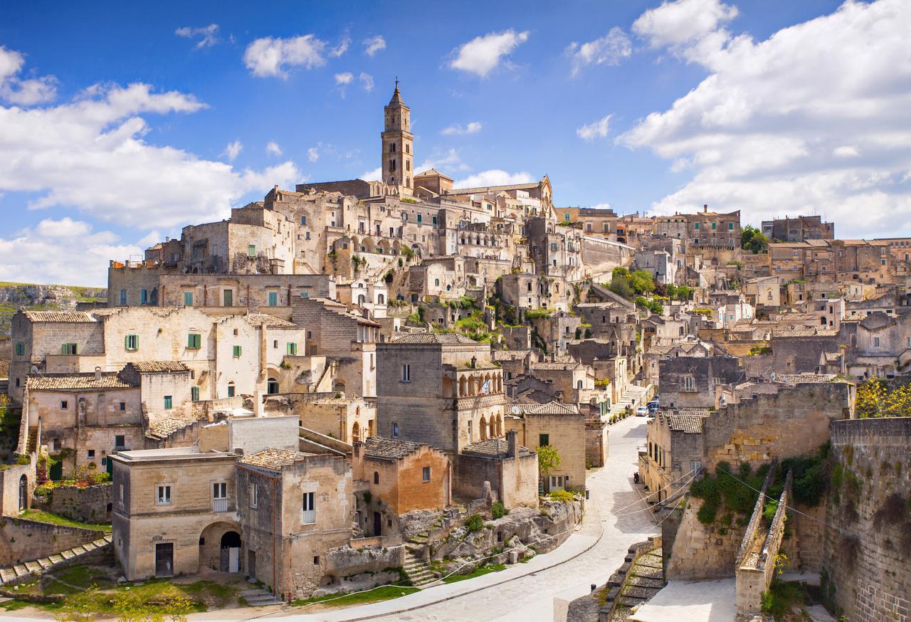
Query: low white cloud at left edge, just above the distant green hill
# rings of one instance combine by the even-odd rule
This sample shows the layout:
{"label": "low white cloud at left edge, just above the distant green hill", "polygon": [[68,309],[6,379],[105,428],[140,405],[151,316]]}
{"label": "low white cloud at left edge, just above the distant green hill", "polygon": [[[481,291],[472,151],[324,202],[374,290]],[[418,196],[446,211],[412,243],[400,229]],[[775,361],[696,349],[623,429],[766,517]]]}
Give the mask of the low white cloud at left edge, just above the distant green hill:
{"label": "low white cloud at left edge, just above the distant green hill", "polygon": [[[60,252],[63,247],[78,247],[79,252]],[[45,219],[34,229],[0,238],[0,280],[104,287],[108,260],[136,258],[141,252],[110,231],[93,233],[87,222]]]}

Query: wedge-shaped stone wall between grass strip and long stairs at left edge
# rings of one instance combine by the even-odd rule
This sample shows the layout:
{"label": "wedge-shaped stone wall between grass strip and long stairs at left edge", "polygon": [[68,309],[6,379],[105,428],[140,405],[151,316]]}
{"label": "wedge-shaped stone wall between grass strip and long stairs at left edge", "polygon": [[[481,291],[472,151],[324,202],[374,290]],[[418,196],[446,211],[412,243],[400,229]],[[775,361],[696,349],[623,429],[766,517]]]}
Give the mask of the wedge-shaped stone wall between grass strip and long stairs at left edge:
{"label": "wedge-shaped stone wall between grass strip and long stairs at left edge", "polygon": [[38,523],[25,518],[0,518],[0,566],[40,559],[101,537],[94,529]]}

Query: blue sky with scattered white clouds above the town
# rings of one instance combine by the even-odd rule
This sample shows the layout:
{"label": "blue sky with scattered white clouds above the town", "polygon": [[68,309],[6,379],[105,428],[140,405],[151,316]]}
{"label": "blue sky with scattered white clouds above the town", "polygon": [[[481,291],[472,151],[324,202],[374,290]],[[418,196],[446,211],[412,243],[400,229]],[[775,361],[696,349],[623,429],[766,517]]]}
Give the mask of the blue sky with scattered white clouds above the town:
{"label": "blue sky with scattered white clouds above the town", "polygon": [[547,174],[559,207],[911,236],[911,2],[0,5],[0,280],[104,286],[274,185]]}

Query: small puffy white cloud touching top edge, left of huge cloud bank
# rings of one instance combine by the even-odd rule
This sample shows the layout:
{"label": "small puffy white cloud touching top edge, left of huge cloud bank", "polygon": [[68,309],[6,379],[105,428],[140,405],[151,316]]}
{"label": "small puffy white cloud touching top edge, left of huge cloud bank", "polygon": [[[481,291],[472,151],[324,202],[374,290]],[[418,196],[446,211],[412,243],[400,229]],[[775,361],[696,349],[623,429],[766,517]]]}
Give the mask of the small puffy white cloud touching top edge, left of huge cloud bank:
{"label": "small puffy white cloud touching top edge, left of huge cloud bank", "polygon": [[673,47],[710,35],[737,16],[737,7],[720,0],[673,0],[649,9],[632,31],[652,47]]}

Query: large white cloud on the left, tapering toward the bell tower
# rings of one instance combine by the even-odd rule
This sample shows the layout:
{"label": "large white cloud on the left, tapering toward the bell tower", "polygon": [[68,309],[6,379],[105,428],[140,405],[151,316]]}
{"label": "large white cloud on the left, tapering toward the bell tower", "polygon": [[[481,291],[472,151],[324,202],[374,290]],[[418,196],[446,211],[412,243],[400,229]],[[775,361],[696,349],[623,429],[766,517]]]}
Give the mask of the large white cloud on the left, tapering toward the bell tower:
{"label": "large white cloud on the left, tapering toward the bell tower", "polygon": [[204,107],[144,84],[96,85],[53,107],[0,106],[0,192],[36,195],[29,209],[77,209],[146,231],[222,219],[245,195],[300,180],[292,162],[237,170],[144,140],[144,116]]}

